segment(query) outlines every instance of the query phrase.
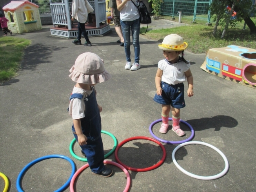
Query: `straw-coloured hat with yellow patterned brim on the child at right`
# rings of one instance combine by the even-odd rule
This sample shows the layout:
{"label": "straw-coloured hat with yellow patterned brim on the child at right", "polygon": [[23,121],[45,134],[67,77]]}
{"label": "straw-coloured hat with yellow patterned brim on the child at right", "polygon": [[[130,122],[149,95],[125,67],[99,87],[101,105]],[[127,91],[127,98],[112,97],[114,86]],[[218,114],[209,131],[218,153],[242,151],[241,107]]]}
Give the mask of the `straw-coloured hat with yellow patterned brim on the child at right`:
{"label": "straw-coloured hat with yellow patterned brim on the child at right", "polygon": [[163,39],[162,45],[158,45],[158,47],[166,51],[183,51],[187,48],[187,43],[183,42],[181,36],[169,34]]}

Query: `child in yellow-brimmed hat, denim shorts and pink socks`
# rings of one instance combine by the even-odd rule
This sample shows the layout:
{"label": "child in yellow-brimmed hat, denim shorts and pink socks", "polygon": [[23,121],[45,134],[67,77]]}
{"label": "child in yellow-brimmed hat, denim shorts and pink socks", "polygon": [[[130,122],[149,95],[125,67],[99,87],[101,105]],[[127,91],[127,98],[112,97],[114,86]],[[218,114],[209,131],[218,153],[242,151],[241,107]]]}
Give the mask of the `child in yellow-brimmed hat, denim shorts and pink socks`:
{"label": "child in yellow-brimmed hat, denim shorts and pink socks", "polygon": [[[187,95],[194,95],[193,92],[193,76],[191,73],[190,63],[185,60],[184,50],[187,43],[183,42],[183,38],[177,34],[167,35],[158,45],[163,50],[165,59],[158,62],[158,70],[156,72],[156,95],[154,101],[162,104],[162,120],[163,123],[159,132],[166,133],[169,126],[169,112],[172,112],[172,130],[183,136],[185,133],[180,129],[180,109],[185,107],[184,84],[188,82]],[[179,55],[182,55],[181,57]]]}

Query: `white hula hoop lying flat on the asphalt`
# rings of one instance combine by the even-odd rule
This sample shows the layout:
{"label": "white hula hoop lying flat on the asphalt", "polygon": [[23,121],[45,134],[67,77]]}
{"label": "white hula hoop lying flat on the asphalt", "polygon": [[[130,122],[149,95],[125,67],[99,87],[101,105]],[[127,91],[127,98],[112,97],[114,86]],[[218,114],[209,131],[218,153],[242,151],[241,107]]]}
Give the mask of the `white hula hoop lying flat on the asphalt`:
{"label": "white hula hoop lying flat on the asphalt", "polygon": [[[175,159],[175,153],[181,147],[183,147],[185,145],[191,145],[191,144],[205,145],[207,147],[211,147],[212,149],[216,150],[222,156],[222,158],[225,161],[225,168],[224,168],[224,170],[222,172],[220,172],[219,174],[214,175],[214,176],[198,176],[198,175],[192,174],[190,172],[187,172],[185,169],[180,167],[180,165],[177,163],[177,161]],[[229,161],[227,161],[227,158],[223,154],[223,152],[221,152],[218,148],[216,148],[216,147],[214,147],[214,146],[212,146],[212,145],[210,145],[208,143],[201,142],[201,141],[189,141],[189,142],[182,143],[182,144],[178,145],[177,147],[175,147],[175,149],[172,151],[172,161],[176,165],[176,167],[178,167],[178,169],[180,169],[186,175],[191,176],[192,178],[201,179],[201,180],[218,179],[218,178],[222,177],[223,175],[225,175],[227,173],[227,171],[229,170]]]}

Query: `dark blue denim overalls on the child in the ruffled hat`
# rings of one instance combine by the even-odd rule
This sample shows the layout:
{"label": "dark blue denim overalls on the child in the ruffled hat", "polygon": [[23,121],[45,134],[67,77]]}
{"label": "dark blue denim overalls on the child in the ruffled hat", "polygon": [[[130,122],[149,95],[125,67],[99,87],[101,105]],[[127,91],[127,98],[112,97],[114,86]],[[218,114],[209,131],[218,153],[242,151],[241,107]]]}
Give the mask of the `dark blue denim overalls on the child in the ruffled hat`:
{"label": "dark blue denim overalls on the child in the ruffled hat", "polygon": [[[83,99],[83,94],[74,93],[70,96],[69,100],[73,98]],[[95,91],[86,98],[85,102],[85,117],[80,119],[82,125],[82,132],[87,137],[87,144],[80,145],[84,154],[86,155],[89,167],[92,172],[99,174],[105,169],[104,150],[101,138],[101,118],[96,100]],[[72,126],[74,137],[78,141],[74,125]]]}

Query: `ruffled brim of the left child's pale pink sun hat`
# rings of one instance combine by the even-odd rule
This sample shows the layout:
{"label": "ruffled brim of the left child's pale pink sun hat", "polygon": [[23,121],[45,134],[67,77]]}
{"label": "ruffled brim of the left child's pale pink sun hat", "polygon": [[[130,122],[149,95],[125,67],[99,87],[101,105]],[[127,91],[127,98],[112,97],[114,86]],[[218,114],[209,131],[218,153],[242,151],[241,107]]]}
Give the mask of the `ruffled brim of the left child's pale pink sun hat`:
{"label": "ruffled brim of the left child's pale pink sun hat", "polygon": [[84,83],[84,84],[96,84],[102,83],[111,78],[111,74],[109,74],[106,70],[99,74],[83,74],[74,69],[74,66],[70,69],[71,74],[69,77],[76,83]]}

